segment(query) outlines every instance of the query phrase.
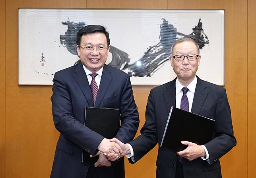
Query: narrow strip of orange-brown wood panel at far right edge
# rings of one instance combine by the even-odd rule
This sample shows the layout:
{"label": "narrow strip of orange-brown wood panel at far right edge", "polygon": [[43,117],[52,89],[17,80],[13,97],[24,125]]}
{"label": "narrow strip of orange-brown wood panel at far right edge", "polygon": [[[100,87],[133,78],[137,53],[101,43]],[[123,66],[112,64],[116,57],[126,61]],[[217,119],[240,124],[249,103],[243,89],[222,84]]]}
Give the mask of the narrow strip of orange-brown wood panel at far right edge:
{"label": "narrow strip of orange-brown wood panel at far right edge", "polygon": [[256,1],[248,0],[248,178],[256,175]]}

